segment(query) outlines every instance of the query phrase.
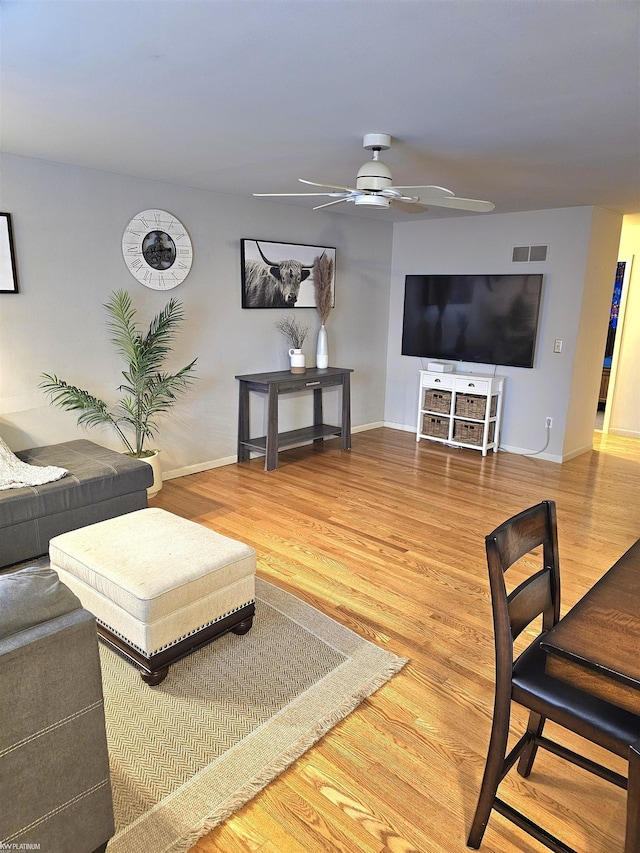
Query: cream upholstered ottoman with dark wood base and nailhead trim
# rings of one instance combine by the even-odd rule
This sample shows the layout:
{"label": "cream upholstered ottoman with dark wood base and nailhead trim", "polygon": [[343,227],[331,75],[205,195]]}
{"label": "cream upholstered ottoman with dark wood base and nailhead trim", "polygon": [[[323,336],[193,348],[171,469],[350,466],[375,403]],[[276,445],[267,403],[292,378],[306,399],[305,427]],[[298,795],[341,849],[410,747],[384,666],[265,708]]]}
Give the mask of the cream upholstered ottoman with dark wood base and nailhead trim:
{"label": "cream upholstered ottoman with dark wood base and nailhead trim", "polygon": [[141,509],[49,543],[51,568],[90,610],[98,633],[151,685],[169,665],[255,612],[253,548],[163,509]]}

